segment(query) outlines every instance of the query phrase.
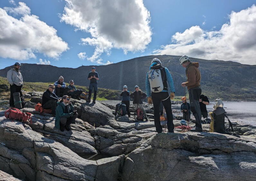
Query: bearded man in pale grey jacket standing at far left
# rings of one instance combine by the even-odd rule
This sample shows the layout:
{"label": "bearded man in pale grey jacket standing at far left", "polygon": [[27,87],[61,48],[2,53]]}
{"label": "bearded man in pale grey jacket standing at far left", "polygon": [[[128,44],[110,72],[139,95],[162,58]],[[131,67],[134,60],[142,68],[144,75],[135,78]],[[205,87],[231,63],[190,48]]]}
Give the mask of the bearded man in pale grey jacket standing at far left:
{"label": "bearded man in pale grey jacket standing at far left", "polygon": [[14,64],[14,68],[9,70],[7,72],[7,80],[10,84],[10,107],[14,108],[14,99],[13,99],[13,93],[14,92],[20,92],[20,96],[22,97],[23,94],[21,92],[21,88],[23,86],[23,78],[22,74],[20,72],[21,64],[19,62],[16,62]]}

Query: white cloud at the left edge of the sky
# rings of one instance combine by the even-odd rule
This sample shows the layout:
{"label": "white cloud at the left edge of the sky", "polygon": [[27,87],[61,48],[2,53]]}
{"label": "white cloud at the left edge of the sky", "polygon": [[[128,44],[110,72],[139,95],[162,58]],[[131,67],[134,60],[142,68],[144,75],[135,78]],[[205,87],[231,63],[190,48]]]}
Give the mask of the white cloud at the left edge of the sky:
{"label": "white cloud at the left edge of the sky", "polygon": [[58,37],[57,30],[40,21],[38,16],[25,13],[20,19],[16,19],[0,8],[1,57],[25,60],[36,58],[34,53],[42,53],[58,58],[67,49],[68,44]]}

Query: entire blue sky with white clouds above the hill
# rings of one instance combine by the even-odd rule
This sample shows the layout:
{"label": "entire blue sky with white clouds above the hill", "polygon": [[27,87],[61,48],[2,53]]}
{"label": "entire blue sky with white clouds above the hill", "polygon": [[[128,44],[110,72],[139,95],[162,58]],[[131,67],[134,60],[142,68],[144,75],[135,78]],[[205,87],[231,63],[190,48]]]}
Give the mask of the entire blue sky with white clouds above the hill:
{"label": "entire blue sky with white clouds above the hill", "polygon": [[255,0],[93,2],[1,0],[0,68],[17,61],[76,68],[152,54],[256,64]]}

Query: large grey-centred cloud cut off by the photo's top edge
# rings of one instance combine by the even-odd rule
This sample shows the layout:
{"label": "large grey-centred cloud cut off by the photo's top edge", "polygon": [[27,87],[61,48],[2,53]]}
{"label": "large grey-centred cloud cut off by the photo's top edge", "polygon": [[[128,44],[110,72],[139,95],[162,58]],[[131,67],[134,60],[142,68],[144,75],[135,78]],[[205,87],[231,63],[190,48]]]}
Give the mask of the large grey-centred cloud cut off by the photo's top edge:
{"label": "large grey-centred cloud cut off by the photo's top edge", "polygon": [[150,13],[142,0],[66,0],[61,21],[89,32],[83,45],[95,47],[87,59],[101,62],[101,54],[110,55],[112,48],[144,51],[151,42]]}

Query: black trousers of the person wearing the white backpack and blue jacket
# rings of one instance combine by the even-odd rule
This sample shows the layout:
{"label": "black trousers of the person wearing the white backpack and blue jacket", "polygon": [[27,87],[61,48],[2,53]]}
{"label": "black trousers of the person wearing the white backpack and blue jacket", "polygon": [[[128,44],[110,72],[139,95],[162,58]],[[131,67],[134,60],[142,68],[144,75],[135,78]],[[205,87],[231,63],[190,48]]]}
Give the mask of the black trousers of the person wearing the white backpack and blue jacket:
{"label": "black trousers of the person wearing the white backpack and blue jacket", "polygon": [[168,92],[152,92],[151,98],[154,106],[154,121],[157,133],[162,133],[163,128],[160,123],[160,102],[163,103],[166,116],[167,116],[167,128],[168,132],[173,132],[173,115],[171,109],[171,99]]}

